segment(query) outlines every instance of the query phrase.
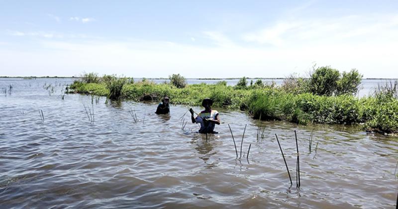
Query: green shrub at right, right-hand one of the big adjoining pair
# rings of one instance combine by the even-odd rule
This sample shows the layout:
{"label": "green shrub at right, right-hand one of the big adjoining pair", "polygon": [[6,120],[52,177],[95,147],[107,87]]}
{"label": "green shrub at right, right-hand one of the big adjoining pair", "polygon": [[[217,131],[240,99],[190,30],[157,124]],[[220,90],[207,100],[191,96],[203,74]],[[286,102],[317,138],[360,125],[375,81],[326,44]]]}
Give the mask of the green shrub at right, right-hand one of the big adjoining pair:
{"label": "green shrub at right, right-hand one of the big adjoining pair", "polygon": [[350,72],[343,72],[341,78],[337,82],[336,95],[356,94],[361,84],[363,75],[358,70],[352,69]]}

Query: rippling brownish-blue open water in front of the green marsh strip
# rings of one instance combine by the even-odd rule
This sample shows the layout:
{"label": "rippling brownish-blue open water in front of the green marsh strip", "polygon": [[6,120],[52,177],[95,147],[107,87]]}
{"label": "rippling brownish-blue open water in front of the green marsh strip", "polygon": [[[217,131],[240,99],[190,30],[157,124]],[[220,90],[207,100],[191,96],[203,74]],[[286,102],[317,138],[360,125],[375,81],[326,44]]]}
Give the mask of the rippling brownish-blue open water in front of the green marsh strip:
{"label": "rippling brownish-blue open water in front of the green marsh strip", "polygon": [[[11,95],[0,97],[0,208],[395,208],[397,138],[356,126],[260,122],[217,109],[223,124],[206,141],[196,124],[181,129],[182,106],[159,116],[152,103],[104,104],[100,98],[92,105],[83,95],[61,100],[62,84],[70,82],[0,80],[0,88],[13,86]],[[56,86],[54,92],[43,89],[45,83]],[[95,122],[84,104],[94,106]],[[247,124],[241,159],[227,124],[238,155]],[[258,127],[265,131],[257,141]]]}

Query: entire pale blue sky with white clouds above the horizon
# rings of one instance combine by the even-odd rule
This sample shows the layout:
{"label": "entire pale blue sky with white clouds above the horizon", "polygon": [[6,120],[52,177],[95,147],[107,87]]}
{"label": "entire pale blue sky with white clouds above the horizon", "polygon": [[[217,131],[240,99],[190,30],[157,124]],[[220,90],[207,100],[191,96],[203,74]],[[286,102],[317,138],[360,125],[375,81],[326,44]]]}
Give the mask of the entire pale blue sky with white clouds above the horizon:
{"label": "entire pale blue sky with white clouds above the horizon", "polygon": [[0,0],[0,76],[398,78],[397,0]]}

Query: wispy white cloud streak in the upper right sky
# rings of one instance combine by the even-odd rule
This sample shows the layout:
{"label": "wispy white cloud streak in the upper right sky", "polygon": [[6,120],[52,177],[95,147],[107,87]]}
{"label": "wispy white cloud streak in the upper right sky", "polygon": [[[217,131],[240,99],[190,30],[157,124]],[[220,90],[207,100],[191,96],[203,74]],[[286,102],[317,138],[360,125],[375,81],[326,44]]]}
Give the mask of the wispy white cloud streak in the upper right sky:
{"label": "wispy white cloud streak in the upper right sky", "polygon": [[[246,42],[275,47],[324,44],[376,44],[398,41],[398,15],[349,15],[330,19],[292,19],[254,32],[245,33]],[[394,38],[395,36],[395,38]]]}

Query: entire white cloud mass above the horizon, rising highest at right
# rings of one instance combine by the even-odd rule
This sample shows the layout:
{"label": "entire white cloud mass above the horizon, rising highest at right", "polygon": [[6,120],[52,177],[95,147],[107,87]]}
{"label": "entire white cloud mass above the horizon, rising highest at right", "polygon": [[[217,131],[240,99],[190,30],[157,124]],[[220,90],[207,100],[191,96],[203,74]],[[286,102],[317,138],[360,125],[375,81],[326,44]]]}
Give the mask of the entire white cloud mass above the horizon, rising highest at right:
{"label": "entire white cloud mass above the horizon, rising highest at right", "polygon": [[[77,17],[71,20],[82,22]],[[397,26],[398,15],[296,18],[245,33],[241,38],[246,42],[234,42],[232,36],[217,30],[189,36],[200,37],[200,43],[204,37],[211,43],[202,46],[105,38],[79,41],[79,35],[66,42],[55,41],[57,35],[63,35],[55,32],[10,31],[19,36],[47,34],[47,39],[35,52],[0,48],[0,66],[13,69],[9,71],[13,75],[79,75],[86,70],[134,77],[173,73],[185,77],[284,77],[293,72],[305,74],[315,61],[317,66],[331,65],[341,71],[357,68],[365,78],[393,78],[398,68]]]}

